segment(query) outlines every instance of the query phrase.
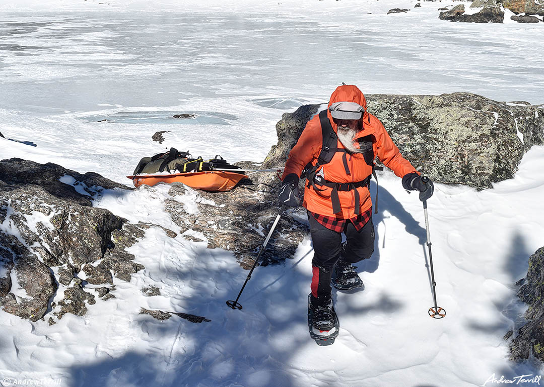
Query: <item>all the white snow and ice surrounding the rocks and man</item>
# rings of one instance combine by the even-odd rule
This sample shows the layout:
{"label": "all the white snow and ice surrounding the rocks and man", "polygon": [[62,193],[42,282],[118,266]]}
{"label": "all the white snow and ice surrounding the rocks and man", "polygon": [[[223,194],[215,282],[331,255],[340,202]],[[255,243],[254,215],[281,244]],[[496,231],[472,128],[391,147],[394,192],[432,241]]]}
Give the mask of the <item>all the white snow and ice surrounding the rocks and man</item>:
{"label": "all the white snow and ice surrounding the rocks and man", "polygon": [[[415,3],[2,0],[0,159],[53,162],[127,185],[141,157],[170,147],[260,162],[282,113],[327,101],[342,82],[364,93],[468,91],[544,103],[540,23],[508,15],[504,24],[451,23],[437,8],[458,3]],[[411,10],[387,15],[391,8]],[[194,117],[172,117],[184,113]],[[167,131],[162,144],[151,141],[156,131]],[[442,320],[427,314],[421,202],[384,173],[376,250],[358,265],[365,289],[335,293],[334,345],[318,347],[308,334],[309,237],[285,265],[258,267],[244,308],[232,310],[225,301],[248,274],[232,253],[152,227],[129,248],[145,270],[116,280],[116,298],[97,298],[85,316],[49,326],[0,310],[0,383],[463,387],[541,375],[531,361],[508,360],[503,335],[523,323],[515,282],[544,245],[542,170],[544,147],[535,146],[515,178],[492,189],[436,185],[429,221]],[[180,231],[164,211],[168,186],[126,193],[61,181],[129,221]],[[194,213],[196,198],[189,190],[174,200]],[[0,226],[16,232],[9,220]],[[145,296],[146,286],[161,295]],[[158,321],[141,307],[211,321]]]}

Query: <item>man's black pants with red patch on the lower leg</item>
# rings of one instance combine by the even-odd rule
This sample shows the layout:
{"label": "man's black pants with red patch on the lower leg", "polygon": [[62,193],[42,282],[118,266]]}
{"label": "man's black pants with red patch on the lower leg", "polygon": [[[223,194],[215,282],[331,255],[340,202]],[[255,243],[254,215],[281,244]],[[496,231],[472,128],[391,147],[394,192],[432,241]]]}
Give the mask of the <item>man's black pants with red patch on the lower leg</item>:
{"label": "man's black pants with red patch on the lower leg", "polygon": [[372,217],[360,231],[348,221],[344,227],[346,246],[342,252],[342,232],[327,229],[310,213],[310,235],[313,243],[312,302],[323,304],[331,297],[331,276],[338,259],[347,263],[370,258],[374,252],[374,224]]}

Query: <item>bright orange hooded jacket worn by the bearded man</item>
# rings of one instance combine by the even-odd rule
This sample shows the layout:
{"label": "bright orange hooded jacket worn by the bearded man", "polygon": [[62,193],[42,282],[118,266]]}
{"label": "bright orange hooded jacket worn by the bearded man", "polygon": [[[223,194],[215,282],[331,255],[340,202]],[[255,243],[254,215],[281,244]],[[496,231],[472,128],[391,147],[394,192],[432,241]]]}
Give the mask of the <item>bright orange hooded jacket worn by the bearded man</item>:
{"label": "bright orange hooded jacket worn by the bearded man", "polygon": [[[367,109],[367,101],[363,96],[363,93],[354,85],[338,86],[332,93],[329,100],[329,106],[335,102],[348,101],[355,102],[364,107],[364,115],[361,118],[363,121],[363,128],[357,133],[356,138],[373,135],[375,141],[373,141],[374,156],[378,156],[379,160],[384,163],[387,168],[393,170],[395,175],[404,177],[404,175],[412,172],[416,172],[416,169],[405,160],[400,154],[397,145],[395,145],[391,137],[387,134],[384,125],[380,120],[373,115],[369,114]],[[327,111],[327,117],[331,123],[332,129],[337,132],[337,126],[333,122],[330,111]],[[355,143],[357,144],[357,142]],[[289,153],[287,162],[285,164],[285,171],[283,172],[282,180],[290,173],[294,173],[300,177],[302,170],[309,162],[312,165],[317,163],[319,153],[323,145],[321,124],[319,122],[319,116],[314,116],[306,124],[306,128],[302,131],[300,138],[296,145]],[[337,147],[344,148],[342,143],[337,139]],[[365,161],[362,154],[347,154],[348,167],[350,175],[345,172],[344,164],[342,161],[342,153],[336,153],[330,163],[324,164],[319,169],[322,171],[326,180],[336,183],[353,183],[366,179],[372,174],[372,167],[370,167]],[[306,183],[306,189],[304,191],[304,202],[302,205],[306,207],[308,211],[326,215],[330,217],[338,217],[343,219],[351,219],[356,216],[355,214],[355,194],[354,190],[351,191],[339,191],[338,198],[340,200],[341,212],[335,214],[332,211],[331,191],[332,188],[322,186],[320,189],[325,191],[319,192]],[[363,213],[368,211],[372,207],[372,200],[370,199],[370,192],[366,186],[356,188],[360,198],[360,211]]]}

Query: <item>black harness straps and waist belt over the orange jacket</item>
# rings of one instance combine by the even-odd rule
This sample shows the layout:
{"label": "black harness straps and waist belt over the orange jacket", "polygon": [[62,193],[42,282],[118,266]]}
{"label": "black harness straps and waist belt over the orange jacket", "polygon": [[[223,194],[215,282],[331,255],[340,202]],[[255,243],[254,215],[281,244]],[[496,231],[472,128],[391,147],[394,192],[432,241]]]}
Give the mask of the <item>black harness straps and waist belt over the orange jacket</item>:
{"label": "black harness straps and waist belt over the orange jacket", "polygon": [[[323,145],[321,148],[321,151],[319,153],[319,157],[317,158],[316,165],[312,166],[311,164],[307,166],[308,170],[308,188],[310,186],[316,190],[316,193],[322,197],[325,197],[320,194],[320,192],[325,191],[325,189],[318,188],[317,186],[325,186],[332,188],[331,192],[331,202],[332,202],[332,212],[335,214],[341,211],[340,206],[340,199],[338,198],[338,191],[351,191],[354,190],[354,196],[355,196],[355,214],[359,214],[360,210],[360,197],[359,193],[357,192],[357,188],[368,186],[370,188],[370,179],[372,179],[372,176],[374,175],[374,179],[376,179],[376,184],[378,183],[378,176],[376,176],[375,170],[383,170],[383,167],[376,167],[374,165],[374,149],[372,146],[373,138],[374,136],[368,135],[364,136],[359,140],[360,147],[362,149],[362,155],[364,157],[364,161],[372,167],[372,174],[368,175],[364,180],[357,181],[353,183],[337,183],[329,180],[325,180],[322,176],[317,175],[318,169],[323,166],[324,164],[330,163],[332,160],[332,157],[336,153],[342,153],[342,161],[344,164],[345,173],[350,176],[351,172],[348,168],[348,160],[346,157],[346,154],[348,151],[344,148],[338,148],[338,136],[336,135],[335,131],[332,129],[332,125],[329,121],[329,117],[327,117],[327,110],[323,110],[319,113],[319,122],[321,123],[321,132],[323,137]],[[378,213],[378,189],[376,188],[376,200],[375,200],[375,211],[374,213]]]}

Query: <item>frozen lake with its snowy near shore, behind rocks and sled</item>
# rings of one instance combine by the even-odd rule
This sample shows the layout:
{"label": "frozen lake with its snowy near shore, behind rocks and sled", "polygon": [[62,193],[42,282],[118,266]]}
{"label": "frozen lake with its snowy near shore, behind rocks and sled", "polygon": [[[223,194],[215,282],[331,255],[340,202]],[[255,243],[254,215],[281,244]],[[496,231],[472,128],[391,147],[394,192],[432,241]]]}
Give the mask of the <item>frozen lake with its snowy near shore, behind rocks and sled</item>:
{"label": "frozen lake with its snowy near shore, behind rocks and sled", "polygon": [[[391,3],[320,4],[0,12],[0,128],[50,161],[123,181],[112,166],[132,170],[162,151],[149,141],[158,130],[193,154],[261,161],[283,112],[328,100],[342,82],[364,93],[544,103],[539,26],[444,22],[437,3],[402,15],[386,15]],[[202,114],[172,119],[191,112]],[[119,147],[135,156],[118,158]],[[96,149],[108,157],[97,162]]]}

